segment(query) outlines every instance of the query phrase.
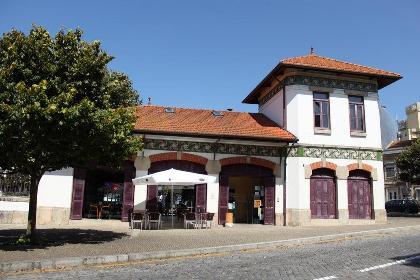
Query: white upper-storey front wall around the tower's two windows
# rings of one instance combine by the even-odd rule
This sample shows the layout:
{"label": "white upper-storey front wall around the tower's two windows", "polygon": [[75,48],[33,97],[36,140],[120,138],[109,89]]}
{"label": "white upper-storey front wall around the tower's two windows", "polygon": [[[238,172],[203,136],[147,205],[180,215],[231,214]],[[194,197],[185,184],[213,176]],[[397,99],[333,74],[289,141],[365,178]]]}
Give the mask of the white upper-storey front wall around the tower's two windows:
{"label": "white upper-storey front wall around the tower's two windows", "polygon": [[304,85],[287,86],[287,124],[285,127],[297,136],[301,144],[342,145],[381,149],[377,94],[369,93],[367,97],[364,97],[364,105],[366,136],[351,136],[348,95],[344,93],[344,90],[334,89],[330,93],[331,135],[315,134],[313,125],[313,92],[309,90],[308,86]]}

